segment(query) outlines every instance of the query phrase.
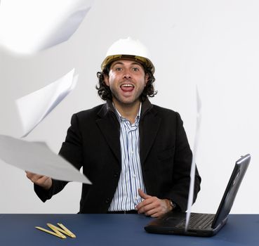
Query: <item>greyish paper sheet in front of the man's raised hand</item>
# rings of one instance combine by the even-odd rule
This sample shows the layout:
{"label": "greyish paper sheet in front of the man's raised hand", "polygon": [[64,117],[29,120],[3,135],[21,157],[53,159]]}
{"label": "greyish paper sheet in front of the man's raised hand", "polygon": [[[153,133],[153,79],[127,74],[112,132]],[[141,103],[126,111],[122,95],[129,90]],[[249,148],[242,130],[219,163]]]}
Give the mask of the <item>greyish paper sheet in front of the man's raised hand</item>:
{"label": "greyish paper sheet in front of the man's raised hand", "polygon": [[53,179],[91,183],[72,164],[53,153],[44,142],[29,142],[0,135],[0,159],[20,169]]}

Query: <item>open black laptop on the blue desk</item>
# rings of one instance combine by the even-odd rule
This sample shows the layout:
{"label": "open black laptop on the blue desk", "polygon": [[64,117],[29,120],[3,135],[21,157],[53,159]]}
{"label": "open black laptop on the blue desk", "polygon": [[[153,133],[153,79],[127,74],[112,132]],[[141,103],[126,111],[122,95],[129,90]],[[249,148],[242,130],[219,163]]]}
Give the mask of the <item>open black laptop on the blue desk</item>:
{"label": "open black laptop on the blue desk", "polygon": [[237,160],[216,214],[191,213],[190,222],[187,231],[185,231],[186,213],[168,212],[147,224],[145,230],[149,233],[194,235],[199,237],[215,235],[227,223],[227,216],[230,213],[250,160],[251,155],[249,154]]}

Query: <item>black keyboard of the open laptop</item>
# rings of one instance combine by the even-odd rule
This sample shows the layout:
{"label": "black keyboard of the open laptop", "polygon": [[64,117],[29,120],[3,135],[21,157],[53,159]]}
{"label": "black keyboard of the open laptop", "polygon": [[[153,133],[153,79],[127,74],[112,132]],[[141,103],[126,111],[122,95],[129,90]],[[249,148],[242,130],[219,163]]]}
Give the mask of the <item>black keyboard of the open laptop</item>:
{"label": "black keyboard of the open laptop", "polygon": [[[192,228],[211,228],[212,221],[214,219],[215,214],[191,214],[189,221],[189,229]],[[185,228],[185,219],[181,221],[176,228]]]}

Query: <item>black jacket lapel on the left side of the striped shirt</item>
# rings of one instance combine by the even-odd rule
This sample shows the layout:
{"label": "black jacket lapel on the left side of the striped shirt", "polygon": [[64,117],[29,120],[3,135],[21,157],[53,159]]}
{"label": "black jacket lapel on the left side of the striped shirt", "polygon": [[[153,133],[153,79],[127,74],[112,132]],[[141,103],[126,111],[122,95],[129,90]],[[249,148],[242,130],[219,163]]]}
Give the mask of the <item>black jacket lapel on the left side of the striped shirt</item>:
{"label": "black jacket lapel on the left side of the striped shirt", "polygon": [[102,132],[109,148],[111,148],[114,155],[117,157],[119,163],[121,163],[121,145],[119,141],[119,123],[116,116],[112,112],[108,113],[106,105],[102,107],[98,113],[100,119],[96,120],[96,124]]}

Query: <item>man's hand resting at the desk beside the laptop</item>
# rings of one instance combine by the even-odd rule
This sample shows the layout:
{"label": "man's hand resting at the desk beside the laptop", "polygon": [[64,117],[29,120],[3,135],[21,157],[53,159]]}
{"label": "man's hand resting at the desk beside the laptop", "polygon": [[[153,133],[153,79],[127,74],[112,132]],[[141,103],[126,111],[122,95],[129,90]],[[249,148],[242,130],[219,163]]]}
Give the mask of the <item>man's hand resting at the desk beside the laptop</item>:
{"label": "man's hand resting at the desk beside the laptop", "polygon": [[144,199],[144,201],[135,207],[138,210],[138,214],[158,217],[172,210],[170,202],[167,199],[152,197],[151,195],[145,194],[141,189],[138,189],[138,194]]}

